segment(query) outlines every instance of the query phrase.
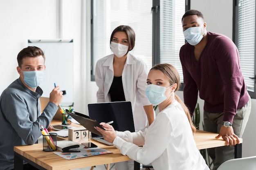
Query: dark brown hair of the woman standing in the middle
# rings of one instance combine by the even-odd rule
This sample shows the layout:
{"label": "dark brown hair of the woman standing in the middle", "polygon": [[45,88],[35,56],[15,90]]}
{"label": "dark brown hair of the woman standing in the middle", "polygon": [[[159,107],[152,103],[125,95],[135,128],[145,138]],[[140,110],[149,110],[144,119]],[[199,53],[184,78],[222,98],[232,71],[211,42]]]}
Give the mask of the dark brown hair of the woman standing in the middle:
{"label": "dark brown hair of the woman standing in the middle", "polygon": [[128,49],[129,49],[129,51],[131,51],[135,46],[135,32],[130,26],[120,25],[117,28],[115,28],[114,31],[111,34],[110,43],[113,39],[114,34],[116,32],[120,32],[120,31],[125,32],[127,34],[128,42],[129,42]]}

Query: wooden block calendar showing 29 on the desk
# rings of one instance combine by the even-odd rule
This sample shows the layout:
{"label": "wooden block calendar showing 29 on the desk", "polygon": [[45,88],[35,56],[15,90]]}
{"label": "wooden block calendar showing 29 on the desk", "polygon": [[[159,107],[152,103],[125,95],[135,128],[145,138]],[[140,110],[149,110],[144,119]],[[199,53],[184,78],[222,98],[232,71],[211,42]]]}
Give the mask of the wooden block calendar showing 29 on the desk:
{"label": "wooden block calendar showing 29 on the desk", "polygon": [[68,140],[77,143],[88,142],[91,140],[91,132],[84,127],[81,128],[69,128]]}

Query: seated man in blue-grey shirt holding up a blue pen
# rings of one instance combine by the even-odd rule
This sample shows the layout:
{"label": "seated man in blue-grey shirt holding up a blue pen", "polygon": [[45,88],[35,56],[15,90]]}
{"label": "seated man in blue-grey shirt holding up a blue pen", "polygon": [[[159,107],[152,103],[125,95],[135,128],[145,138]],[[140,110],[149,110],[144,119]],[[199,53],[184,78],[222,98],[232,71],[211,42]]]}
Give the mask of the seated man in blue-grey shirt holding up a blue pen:
{"label": "seated man in blue-grey shirt holding up a blue pen", "polygon": [[[14,166],[13,146],[33,145],[42,135],[40,125],[48,128],[63,92],[55,87],[49,95],[49,103],[41,113],[39,87],[44,79],[45,55],[35,46],[22,49],[17,57],[20,75],[0,96],[0,170],[11,170]],[[49,84],[50,85],[50,84]],[[51,84],[54,87],[54,84]],[[24,162],[24,170],[36,168]]]}

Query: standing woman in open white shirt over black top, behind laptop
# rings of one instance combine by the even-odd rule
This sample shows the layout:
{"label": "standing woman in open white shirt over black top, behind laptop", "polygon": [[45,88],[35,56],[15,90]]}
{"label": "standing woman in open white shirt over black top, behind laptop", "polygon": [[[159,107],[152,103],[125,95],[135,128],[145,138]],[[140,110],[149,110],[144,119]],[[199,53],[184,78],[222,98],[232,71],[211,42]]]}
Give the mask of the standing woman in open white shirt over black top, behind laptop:
{"label": "standing woman in open white shirt over black top, behind laptop", "polygon": [[[130,54],[135,45],[135,32],[130,26],[118,26],[111,34],[113,54],[97,61],[95,80],[99,87],[97,102],[130,101],[135,130],[144,130],[155,118],[153,105],[146,97],[146,64]],[[117,170],[133,169],[133,161],[116,163]]]}

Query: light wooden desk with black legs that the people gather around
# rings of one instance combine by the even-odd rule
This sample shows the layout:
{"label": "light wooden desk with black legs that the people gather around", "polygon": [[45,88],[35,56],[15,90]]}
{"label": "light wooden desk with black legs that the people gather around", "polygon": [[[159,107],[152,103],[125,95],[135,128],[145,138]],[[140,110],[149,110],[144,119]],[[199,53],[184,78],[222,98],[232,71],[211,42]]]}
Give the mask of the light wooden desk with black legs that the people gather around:
{"label": "light wooden desk with black legs that the people gather around", "polygon": [[[76,125],[71,124],[71,126],[76,126]],[[198,149],[225,146],[225,141],[223,139],[215,138],[217,135],[218,134],[215,134],[215,133],[198,130],[194,134],[194,139]],[[22,170],[22,160],[27,161],[28,163],[30,163],[31,165],[35,166],[40,170],[70,170],[70,169],[91,167],[91,166],[130,160],[129,157],[122,155],[120,153],[120,150],[115,148],[115,146],[106,146],[97,141],[92,141],[92,142],[98,145],[100,148],[110,150],[113,153],[67,160],[54,154],[53,152],[44,152],[43,144],[15,146],[14,147],[15,170]],[[240,139],[240,145],[236,145],[235,148],[240,148],[240,151],[241,151],[242,142],[243,142],[243,139]],[[237,147],[237,146],[240,146],[240,147]],[[60,152],[60,151],[55,151],[55,152]],[[241,155],[242,155],[242,152],[238,153],[238,155],[236,156],[241,157]],[[136,161],[135,161],[135,170],[139,170],[139,163],[137,163]]]}

